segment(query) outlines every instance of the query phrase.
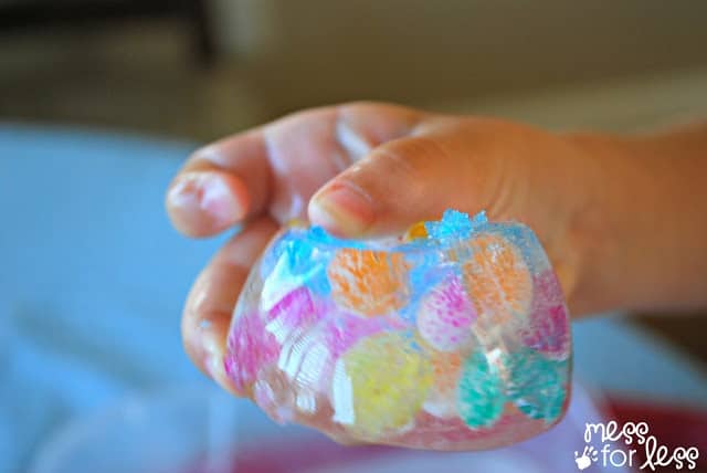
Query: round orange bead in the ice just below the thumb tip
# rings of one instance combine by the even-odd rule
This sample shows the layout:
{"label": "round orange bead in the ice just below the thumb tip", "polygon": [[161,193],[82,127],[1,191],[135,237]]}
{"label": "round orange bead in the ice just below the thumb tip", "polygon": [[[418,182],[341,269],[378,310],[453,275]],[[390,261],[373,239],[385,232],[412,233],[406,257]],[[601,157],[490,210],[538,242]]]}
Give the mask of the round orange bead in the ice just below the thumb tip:
{"label": "round orange bead in the ice just below the thumb tip", "polygon": [[408,270],[400,253],[340,250],[327,269],[331,297],[367,316],[397,311],[408,302]]}

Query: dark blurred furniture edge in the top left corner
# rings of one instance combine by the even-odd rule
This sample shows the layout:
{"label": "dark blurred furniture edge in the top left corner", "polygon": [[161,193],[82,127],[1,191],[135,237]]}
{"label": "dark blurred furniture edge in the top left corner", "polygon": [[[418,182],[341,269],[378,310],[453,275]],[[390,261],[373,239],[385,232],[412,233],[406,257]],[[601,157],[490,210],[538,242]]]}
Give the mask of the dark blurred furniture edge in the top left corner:
{"label": "dark blurred furniture edge in the top left corner", "polygon": [[0,0],[0,33],[48,28],[87,29],[130,19],[173,18],[190,30],[197,60],[215,56],[208,0]]}

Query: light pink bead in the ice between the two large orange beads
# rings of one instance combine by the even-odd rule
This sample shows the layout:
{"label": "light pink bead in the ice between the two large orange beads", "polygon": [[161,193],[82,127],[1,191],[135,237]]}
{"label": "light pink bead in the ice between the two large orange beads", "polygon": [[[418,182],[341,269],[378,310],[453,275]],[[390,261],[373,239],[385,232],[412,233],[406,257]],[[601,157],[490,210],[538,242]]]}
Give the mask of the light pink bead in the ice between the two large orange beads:
{"label": "light pink bead in the ice between the two large orange beads", "polygon": [[433,348],[454,351],[472,337],[476,309],[460,278],[450,274],[420,302],[418,332]]}

